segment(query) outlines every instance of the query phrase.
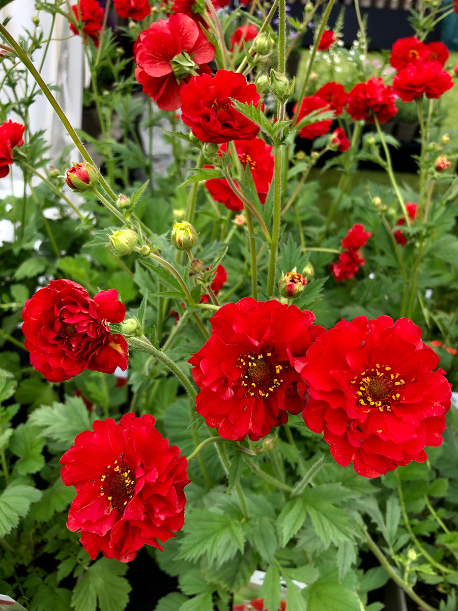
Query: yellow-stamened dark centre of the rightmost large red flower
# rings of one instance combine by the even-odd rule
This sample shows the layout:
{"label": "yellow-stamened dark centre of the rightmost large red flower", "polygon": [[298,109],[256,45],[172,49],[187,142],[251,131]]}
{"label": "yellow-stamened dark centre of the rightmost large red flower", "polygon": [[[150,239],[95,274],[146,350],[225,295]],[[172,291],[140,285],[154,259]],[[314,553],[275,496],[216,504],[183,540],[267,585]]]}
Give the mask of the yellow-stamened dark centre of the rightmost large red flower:
{"label": "yellow-stamened dark centre of the rightmost large red flower", "polygon": [[355,378],[351,383],[356,389],[357,405],[369,409],[379,408],[381,412],[385,409],[390,411],[391,401],[401,398],[399,387],[405,384],[399,373],[392,373],[391,367],[378,363],[375,367],[362,371],[361,378]]}

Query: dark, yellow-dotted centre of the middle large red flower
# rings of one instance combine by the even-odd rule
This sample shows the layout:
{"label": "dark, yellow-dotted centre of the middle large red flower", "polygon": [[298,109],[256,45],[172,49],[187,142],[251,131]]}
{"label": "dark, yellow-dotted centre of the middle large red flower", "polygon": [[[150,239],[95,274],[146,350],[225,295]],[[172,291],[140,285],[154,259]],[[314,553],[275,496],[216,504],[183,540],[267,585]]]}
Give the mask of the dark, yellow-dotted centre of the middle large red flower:
{"label": "dark, yellow-dotted centre of the middle large red flower", "polygon": [[[271,352],[266,353],[266,357],[272,356]],[[242,386],[247,387],[247,395],[250,397],[269,397],[283,379],[281,371],[286,367],[270,362],[260,353],[258,356],[252,354],[242,354],[237,359],[237,367],[244,370],[242,375]]]}

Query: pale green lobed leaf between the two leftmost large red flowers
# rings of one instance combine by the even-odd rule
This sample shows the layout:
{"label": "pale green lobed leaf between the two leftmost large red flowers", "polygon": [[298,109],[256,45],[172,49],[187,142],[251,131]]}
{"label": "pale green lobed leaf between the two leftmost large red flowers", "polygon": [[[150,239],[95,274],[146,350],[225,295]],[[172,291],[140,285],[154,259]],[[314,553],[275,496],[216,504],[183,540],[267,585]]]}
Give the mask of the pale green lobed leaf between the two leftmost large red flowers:
{"label": "pale green lobed leaf between the two leftmost large red flowers", "polygon": [[82,431],[92,428],[93,418],[81,397],[67,397],[65,403],[54,401],[29,416],[29,423],[43,428],[42,434],[68,448]]}

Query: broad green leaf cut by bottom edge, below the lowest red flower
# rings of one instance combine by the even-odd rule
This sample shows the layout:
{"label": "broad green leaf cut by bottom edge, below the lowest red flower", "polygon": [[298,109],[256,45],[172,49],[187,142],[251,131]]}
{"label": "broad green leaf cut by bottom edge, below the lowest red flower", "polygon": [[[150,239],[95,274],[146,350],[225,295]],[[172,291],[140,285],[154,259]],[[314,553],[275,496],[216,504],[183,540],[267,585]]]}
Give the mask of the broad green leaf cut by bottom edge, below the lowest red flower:
{"label": "broad green leaf cut by bottom edge, below the lowest red flower", "polygon": [[132,590],[128,580],[123,577],[128,565],[109,558],[100,558],[76,584],[71,597],[75,611],[123,611],[129,602]]}

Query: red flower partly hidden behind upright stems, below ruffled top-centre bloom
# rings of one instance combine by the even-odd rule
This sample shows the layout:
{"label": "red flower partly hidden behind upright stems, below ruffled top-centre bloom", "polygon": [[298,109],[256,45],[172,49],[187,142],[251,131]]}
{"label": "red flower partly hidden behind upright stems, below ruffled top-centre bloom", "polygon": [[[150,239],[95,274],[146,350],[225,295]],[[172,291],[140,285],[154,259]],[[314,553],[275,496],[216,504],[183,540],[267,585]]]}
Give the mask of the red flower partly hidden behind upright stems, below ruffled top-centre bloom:
{"label": "red flower partly hidden behind upright stems, below ruffled top-centre bloom", "polygon": [[[267,192],[274,175],[275,159],[272,155],[272,147],[264,143],[261,138],[253,140],[236,140],[234,142],[237,154],[243,167],[250,165],[251,174],[255,183],[256,192],[260,202],[266,201]],[[222,144],[218,154],[222,156],[227,150],[227,145]],[[213,166],[204,166],[213,167]],[[237,183],[235,183],[237,185]],[[216,202],[225,205],[228,210],[243,210],[242,200],[234,194],[225,178],[211,178],[205,182],[205,186]],[[238,185],[237,185],[238,186]]]}

